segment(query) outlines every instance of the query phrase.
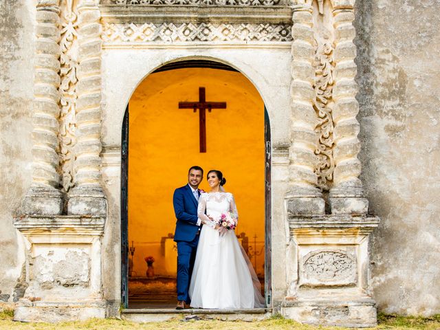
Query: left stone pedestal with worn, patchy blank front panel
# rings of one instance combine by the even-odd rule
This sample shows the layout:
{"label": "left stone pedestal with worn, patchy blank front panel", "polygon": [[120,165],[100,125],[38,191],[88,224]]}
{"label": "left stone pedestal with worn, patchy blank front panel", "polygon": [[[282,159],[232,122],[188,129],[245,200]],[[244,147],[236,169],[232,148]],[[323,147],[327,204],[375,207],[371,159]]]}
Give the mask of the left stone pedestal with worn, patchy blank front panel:
{"label": "left stone pedestal with worn, patchy blank front panel", "polygon": [[104,318],[103,217],[25,216],[14,225],[27,245],[26,282],[14,320],[58,322]]}

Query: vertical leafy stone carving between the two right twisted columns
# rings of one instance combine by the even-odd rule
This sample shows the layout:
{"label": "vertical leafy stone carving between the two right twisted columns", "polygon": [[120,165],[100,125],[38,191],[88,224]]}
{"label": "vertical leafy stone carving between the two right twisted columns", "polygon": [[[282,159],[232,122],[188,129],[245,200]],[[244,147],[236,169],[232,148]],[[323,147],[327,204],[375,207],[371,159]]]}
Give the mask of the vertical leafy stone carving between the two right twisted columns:
{"label": "vertical leafy stone carving between the two right twisted columns", "polygon": [[318,146],[316,155],[318,164],[316,174],[318,175],[318,186],[329,190],[329,184],[333,181],[333,119],[331,113],[333,93],[333,45],[328,41],[320,43],[315,40],[315,97],[314,109],[318,115]]}

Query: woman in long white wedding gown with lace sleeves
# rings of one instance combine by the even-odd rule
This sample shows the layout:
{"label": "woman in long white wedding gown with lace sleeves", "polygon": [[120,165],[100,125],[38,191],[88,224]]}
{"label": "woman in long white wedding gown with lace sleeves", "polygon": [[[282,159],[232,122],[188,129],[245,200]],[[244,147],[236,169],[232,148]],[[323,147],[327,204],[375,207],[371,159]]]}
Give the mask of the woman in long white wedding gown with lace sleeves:
{"label": "woman in long white wedding gown with lace sleeves", "polygon": [[222,214],[223,217],[230,214],[228,219],[236,225],[238,214],[234,197],[223,190],[226,179],[219,170],[210,170],[207,177],[211,191],[199,198],[197,216],[204,225],[192,270],[190,306],[206,309],[263,307],[259,279],[234,230],[217,224]]}

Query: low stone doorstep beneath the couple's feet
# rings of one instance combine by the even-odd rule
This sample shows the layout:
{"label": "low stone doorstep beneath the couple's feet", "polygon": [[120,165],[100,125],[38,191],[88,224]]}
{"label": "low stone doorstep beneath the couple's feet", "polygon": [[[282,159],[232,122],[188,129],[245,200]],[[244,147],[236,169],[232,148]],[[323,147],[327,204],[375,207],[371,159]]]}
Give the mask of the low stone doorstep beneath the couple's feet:
{"label": "low stone doorstep beneath the couple's feet", "polygon": [[124,320],[133,322],[157,322],[173,318],[182,320],[264,320],[272,316],[272,308],[256,309],[124,309],[121,312]]}

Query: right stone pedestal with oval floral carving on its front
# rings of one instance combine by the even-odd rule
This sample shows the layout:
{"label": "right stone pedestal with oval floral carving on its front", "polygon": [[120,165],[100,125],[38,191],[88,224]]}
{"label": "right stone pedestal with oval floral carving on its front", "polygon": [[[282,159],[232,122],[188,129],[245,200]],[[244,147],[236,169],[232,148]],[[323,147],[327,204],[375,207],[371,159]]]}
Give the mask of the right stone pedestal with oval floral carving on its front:
{"label": "right stone pedestal with oval floral carving on its front", "polygon": [[312,325],[375,326],[368,239],[379,219],[349,214],[288,218],[292,267],[282,314]]}

